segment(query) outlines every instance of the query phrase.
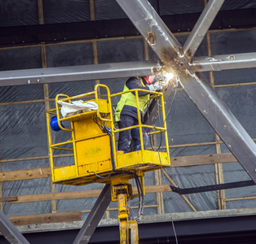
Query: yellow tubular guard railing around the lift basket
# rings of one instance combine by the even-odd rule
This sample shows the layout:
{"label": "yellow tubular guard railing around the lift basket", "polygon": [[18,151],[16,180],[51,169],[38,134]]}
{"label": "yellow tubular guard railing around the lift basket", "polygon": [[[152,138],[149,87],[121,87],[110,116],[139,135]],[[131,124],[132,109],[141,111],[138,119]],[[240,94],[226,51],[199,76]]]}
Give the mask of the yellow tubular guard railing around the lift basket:
{"label": "yellow tubular guard railing around the lift basket", "polygon": [[[142,155],[144,155],[143,151],[145,150],[145,148],[143,146],[143,128],[144,129],[152,129],[153,131],[148,133],[150,135],[157,134],[157,133],[165,133],[166,145],[168,145],[168,135],[167,135],[167,129],[166,129],[166,113],[165,113],[163,94],[158,93],[158,92],[152,92],[152,91],[145,90],[145,89],[130,89],[130,90],[127,90],[127,91],[123,91],[121,93],[110,94],[108,86],[98,84],[98,85],[95,85],[95,90],[94,91],[92,91],[90,93],[86,93],[86,94],[80,94],[80,95],[73,96],[73,97],[68,97],[68,95],[65,95],[65,94],[58,94],[55,98],[55,108],[46,112],[46,119],[47,119],[47,124],[48,124],[47,129],[48,129],[48,139],[49,139],[49,154],[50,154],[50,159],[51,159],[51,169],[52,170],[54,168],[53,151],[52,150],[53,149],[55,149],[55,150],[73,150],[73,149],[70,149],[70,148],[61,147],[61,146],[64,146],[66,144],[73,143],[73,136],[70,140],[68,140],[66,142],[59,142],[59,143],[51,144],[50,115],[56,115],[57,116],[58,124],[59,124],[60,129],[62,129],[64,131],[69,131],[73,135],[73,133],[74,133],[73,132],[73,123],[71,123],[71,129],[67,129],[67,128],[64,128],[64,126],[61,124],[61,122],[65,121],[65,120],[71,121],[72,118],[78,118],[79,119],[79,117],[84,115],[85,113],[81,113],[79,115],[73,115],[73,116],[64,118],[64,117],[62,117],[62,115],[60,115],[60,108],[61,107],[60,107],[58,101],[71,103],[75,99],[88,98],[89,96],[92,96],[91,100],[94,100],[97,104],[99,104],[99,94],[98,94],[99,87],[103,87],[104,89],[107,90],[106,97],[107,97],[107,102],[108,102],[107,104],[108,104],[108,107],[109,107],[109,112],[108,112],[109,116],[108,116],[108,118],[104,118],[104,115],[101,115],[102,113],[101,113],[99,107],[98,107],[97,111],[90,111],[89,113],[92,113],[92,116],[97,117],[100,121],[102,121],[103,124],[107,123],[108,128],[109,127],[111,128],[109,133],[111,133],[111,137],[112,137],[112,146],[113,146],[112,154],[113,154],[113,160],[115,162],[117,162],[116,161],[117,160],[117,150],[116,150],[115,135],[116,135],[116,133],[119,133],[121,131],[139,128],[139,137],[140,137]],[[161,100],[161,115],[162,115],[161,116],[162,117],[161,123],[163,124],[162,127],[161,126],[148,125],[148,124],[142,124],[142,118],[141,118],[141,114],[140,114],[140,111],[139,111],[139,91],[142,91],[143,93],[151,94],[151,98],[157,98],[157,99],[160,98],[160,100]],[[137,106],[137,115],[138,115],[139,124],[134,125],[134,126],[130,126],[130,127],[124,128],[124,129],[117,129],[117,128],[115,128],[115,124],[114,124],[114,121],[113,121],[113,109],[112,109],[111,99],[114,98],[114,97],[121,96],[121,94],[132,93],[132,92],[134,92],[135,96],[136,96],[136,106]],[[62,97],[64,97],[64,98],[62,98]],[[169,155],[169,146],[166,146],[166,152]],[[75,151],[74,151],[74,154],[76,154]],[[76,168],[77,168],[77,165],[76,165]],[[76,170],[76,172],[77,172],[77,170]],[[53,174],[53,176],[54,176],[54,174]]]}

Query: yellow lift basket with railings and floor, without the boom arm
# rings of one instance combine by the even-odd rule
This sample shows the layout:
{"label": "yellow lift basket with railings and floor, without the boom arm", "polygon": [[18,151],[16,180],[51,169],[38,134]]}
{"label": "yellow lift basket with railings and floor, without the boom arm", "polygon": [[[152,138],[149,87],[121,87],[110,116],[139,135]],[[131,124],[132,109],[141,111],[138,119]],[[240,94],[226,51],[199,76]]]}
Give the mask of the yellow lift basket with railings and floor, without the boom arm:
{"label": "yellow lift basket with railings and floor, without the boom arm", "polygon": [[[99,98],[99,87],[106,89],[107,94]],[[161,103],[161,124],[160,126],[141,123],[139,112],[139,90],[132,89],[126,92],[135,92],[139,124],[126,129],[139,128],[141,150],[124,154],[116,149],[117,133],[121,129],[115,127],[113,121],[113,107],[111,99],[121,96],[126,92],[110,94],[106,85],[95,85],[95,90],[90,93],[68,97],[65,94],[58,94],[55,98],[55,108],[46,112],[48,142],[51,159],[52,181],[64,185],[86,185],[90,183],[120,182],[121,178],[133,178],[136,174],[143,180],[144,172],[165,168],[170,166],[169,146],[166,130],[166,114],[163,94],[150,92],[152,98],[158,99]],[[86,99],[86,102],[95,102],[98,105],[96,110],[82,111],[75,115],[62,116],[60,113],[60,102],[72,103],[77,99]],[[60,129],[71,133],[71,139],[65,142],[52,143],[51,117],[56,116]],[[63,123],[69,123],[64,127]],[[150,135],[163,133],[165,140],[165,151],[152,150],[143,146],[143,129],[151,129]],[[56,136],[57,137],[57,136]],[[70,144],[67,149],[64,146]],[[73,150],[74,164],[56,166],[54,150]]]}

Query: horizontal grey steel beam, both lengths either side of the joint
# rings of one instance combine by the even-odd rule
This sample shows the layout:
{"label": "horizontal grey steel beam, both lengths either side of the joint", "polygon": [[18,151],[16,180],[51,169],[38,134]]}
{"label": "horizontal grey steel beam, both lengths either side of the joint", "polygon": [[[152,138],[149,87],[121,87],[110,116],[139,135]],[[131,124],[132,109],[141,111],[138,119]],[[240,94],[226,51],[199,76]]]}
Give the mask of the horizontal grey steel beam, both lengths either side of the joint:
{"label": "horizontal grey steel beam, both lengths either side of the joint", "polygon": [[[195,57],[190,63],[197,72],[256,68],[256,53]],[[0,72],[0,86],[91,81],[129,76],[161,75],[161,61],[103,63],[61,68],[34,68]]]}

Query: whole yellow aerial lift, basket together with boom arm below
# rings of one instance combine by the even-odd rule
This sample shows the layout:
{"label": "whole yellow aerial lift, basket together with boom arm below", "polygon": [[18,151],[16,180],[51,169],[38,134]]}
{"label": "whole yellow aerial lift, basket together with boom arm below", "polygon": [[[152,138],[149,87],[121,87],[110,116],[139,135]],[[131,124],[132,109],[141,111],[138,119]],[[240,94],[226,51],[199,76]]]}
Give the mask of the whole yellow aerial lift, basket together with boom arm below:
{"label": "whole yellow aerial lift, basket together with boom arm below", "polygon": [[[99,88],[107,90],[107,95],[100,96]],[[148,92],[152,99],[161,107],[158,117],[161,117],[162,126],[147,125],[141,123],[139,111],[139,91]],[[136,96],[137,115],[139,124],[124,129],[117,129],[113,121],[113,106],[111,99],[121,94],[134,92]],[[95,110],[78,111],[72,115],[61,115],[63,106],[71,106],[77,99],[85,99],[80,104],[93,103]],[[65,103],[66,102],[66,103]],[[160,115],[161,113],[161,115]],[[62,113],[63,114],[63,113]],[[52,118],[53,117],[53,118]],[[137,220],[143,215],[144,172],[157,170],[170,166],[170,154],[166,130],[166,113],[163,94],[145,91],[144,89],[131,89],[118,94],[110,94],[106,85],[95,85],[95,90],[87,94],[68,97],[65,94],[58,94],[55,98],[55,108],[46,112],[49,152],[51,160],[52,181],[64,185],[86,185],[90,183],[105,183],[104,189],[110,188],[112,201],[118,201],[118,220],[120,229],[120,243],[139,244],[139,233]],[[51,119],[51,120],[50,120]],[[54,124],[52,124],[54,121]],[[63,124],[68,123],[68,126]],[[56,126],[57,125],[57,126]],[[139,128],[141,150],[124,154],[116,149],[116,137],[120,131]],[[51,129],[62,129],[70,134],[70,139],[65,142],[53,143]],[[145,148],[143,144],[143,129],[150,129],[150,136],[164,134],[166,147],[160,150]],[[67,147],[67,145],[69,147]],[[163,151],[165,149],[165,151]],[[74,163],[72,165],[58,166],[54,155],[55,150],[72,150]],[[129,180],[135,179],[138,194],[133,194],[132,185]],[[140,181],[139,181],[140,179]],[[105,192],[105,190],[103,190]],[[129,201],[139,197],[138,217],[131,220]],[[103,200],[103,197],[100,201]],[[92,214],[93,215],[93,214]],[[100,218],[99,218],[100,219]],[[86,223],[85,223],[86,224]],[[83,230],[81,229],[82,234]],[[130,232],[129,232],[130,231]],[[80,232],[79,232],[80,233]],[[78,235],[79,236],[79,235]],[[77,237],[79,239],[79,237]]]}

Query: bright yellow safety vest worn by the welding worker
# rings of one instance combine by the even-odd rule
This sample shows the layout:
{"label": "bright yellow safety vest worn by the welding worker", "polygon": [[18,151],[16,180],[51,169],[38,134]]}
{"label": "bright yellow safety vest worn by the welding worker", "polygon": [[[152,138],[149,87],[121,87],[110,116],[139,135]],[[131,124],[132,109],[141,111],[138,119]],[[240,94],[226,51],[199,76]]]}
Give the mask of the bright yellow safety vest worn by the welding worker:
{"label": "bright yellow safety vest worn by the welding worker", "polygon": [[[139,81],[145,87],[146,85],[143,84],[142,78],[140,78],[139,76],[137,76],[137,78],[139,78]],[[123,91],[127,91],[127,90],[129,90],[129,88],[125,85]],[[148,101],[149,101],[149,94],[139,97],[139,110],[140,111],[144,112],[144,109],[145,109]],[[132,93],[121,94],[121,98],[120,98],[120,101],[117,103],[116,112],[114,115],[115,122],[118,122],[120,120],[121,111],[125,105],[131,106],[131,107],[137,107],[136,106],[136,96]]]}

